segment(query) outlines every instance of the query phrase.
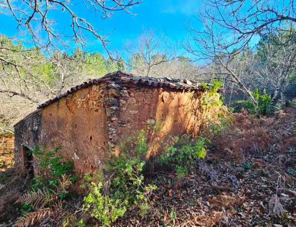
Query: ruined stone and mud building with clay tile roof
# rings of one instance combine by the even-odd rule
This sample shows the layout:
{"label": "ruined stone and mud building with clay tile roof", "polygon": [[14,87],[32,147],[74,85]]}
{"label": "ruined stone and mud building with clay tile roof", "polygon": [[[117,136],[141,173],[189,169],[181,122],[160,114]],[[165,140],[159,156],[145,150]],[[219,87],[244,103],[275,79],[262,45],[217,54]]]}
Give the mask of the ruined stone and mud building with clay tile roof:
{"label": "ruined stone and mud building with clay tile roof", "polygon": [[[123,72],[89,80],[41,104],[15,124],[15,167],[32,168],[28,151],[45,144],[48,149],[61,146],[59,152],[73,159],[75,172],[82,175],[118,152],[123,138],[158,122],[158,138],[197,135],[208,111],[203,107],[206,93],[189,80]],[[148,135],[148,142],[152,137]]]}

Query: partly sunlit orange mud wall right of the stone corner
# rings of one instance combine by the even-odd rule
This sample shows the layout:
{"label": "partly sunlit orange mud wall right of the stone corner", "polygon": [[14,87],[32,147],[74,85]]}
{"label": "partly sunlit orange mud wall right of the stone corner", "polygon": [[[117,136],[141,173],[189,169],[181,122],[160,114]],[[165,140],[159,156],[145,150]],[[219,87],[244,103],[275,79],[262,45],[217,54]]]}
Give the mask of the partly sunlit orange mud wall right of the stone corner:
{"label": "partly sunlit orange mud wall right of the stone corner", "polygon": [[[122,139],[144,128],[148,129],[149,145],[155,140],[165,141],[170,135],[186,133],[196,136],[199,133],[207,115],[203,106],[206,92],[126,85],[117,91],[119,108],[114,107],[118,111],[113,113],[113,121],[109,125],[109,144],[115,154],[119,154],[118,144]],[[159,130],[155,132],[151,129],[153,126]]]}

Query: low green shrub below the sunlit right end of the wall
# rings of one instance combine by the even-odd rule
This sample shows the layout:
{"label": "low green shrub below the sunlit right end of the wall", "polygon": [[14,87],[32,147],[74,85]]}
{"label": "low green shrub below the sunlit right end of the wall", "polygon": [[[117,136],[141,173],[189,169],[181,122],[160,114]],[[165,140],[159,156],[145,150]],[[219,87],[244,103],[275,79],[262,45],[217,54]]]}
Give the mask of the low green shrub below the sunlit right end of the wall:
{"label": "low green shrub below the sunlit right end of the wall", "polygon": [[182,179],[188,175],[196,159],[205,158],[206,144],[210,141],[205,137],[191,140],[189,136],[182,139],[174,137],[173,141],[157,159],[161,165],[175,169],[178,179]]}

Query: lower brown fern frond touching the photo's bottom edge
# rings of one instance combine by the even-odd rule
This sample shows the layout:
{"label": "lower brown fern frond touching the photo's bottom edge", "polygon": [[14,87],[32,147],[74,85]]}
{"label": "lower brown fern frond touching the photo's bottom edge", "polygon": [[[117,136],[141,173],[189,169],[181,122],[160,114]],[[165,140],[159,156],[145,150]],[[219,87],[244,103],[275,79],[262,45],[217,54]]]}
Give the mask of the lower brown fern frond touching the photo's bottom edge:
{"label": "lower brown fern frond touching the photo's bottom edge", "polygon": [[46,215],[49,216],[50,214],[50,208],[38,209],[35,212],[27,213],[24,216],[19,217],[13,224],[13,227],[28,227],[29,225],[33,225],[36,220],[40,222],[42,218]]}

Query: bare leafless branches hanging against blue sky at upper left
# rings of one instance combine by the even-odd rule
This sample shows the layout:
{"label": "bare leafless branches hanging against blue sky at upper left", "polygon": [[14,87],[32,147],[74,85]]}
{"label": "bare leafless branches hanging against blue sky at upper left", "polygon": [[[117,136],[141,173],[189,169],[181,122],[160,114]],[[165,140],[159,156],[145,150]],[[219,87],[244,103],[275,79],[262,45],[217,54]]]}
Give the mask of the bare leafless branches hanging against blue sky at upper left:
{"label": "bare leafless branches hanging against blue sky at upper left", "polygon": [[[131,6],[141,2],[142,0],[83,0],[80,6],[106,19],[120,10],[132,14]],[[27,42],[30,38],[43,51],[70,48],[73,42],[81,47],[91,37],[99,39],[107,50],[107,39],[102,28],[83,18],[81,7],[69,0],[0,0],[1,12],[12,16],[17,22],[18,38],[23,37]],[[55,20],[57,14],[62,14],[70,25],[59,28],[58,21]]]}

